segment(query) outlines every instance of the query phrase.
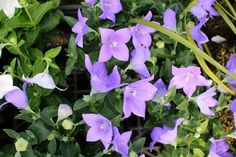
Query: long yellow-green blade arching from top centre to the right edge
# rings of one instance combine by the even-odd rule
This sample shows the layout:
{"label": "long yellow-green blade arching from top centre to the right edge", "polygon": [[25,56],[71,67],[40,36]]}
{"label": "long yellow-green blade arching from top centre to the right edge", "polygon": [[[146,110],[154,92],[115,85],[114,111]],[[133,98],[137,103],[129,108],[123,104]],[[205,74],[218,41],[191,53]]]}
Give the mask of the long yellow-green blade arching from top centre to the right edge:
{"label": "long yellow-green blade arching from top centre to the right edge", "polygon": [[154,28],[154,29],[158,30],[159,32],[169,36],[170,38],[172,38],[174,40],[177,40],[179,43],[181,43],[181,44],[185,45],[186,47],[190,48],[191,50],[196,52],[196,54],[198,54],[200,57],[204,58],[206,61],[208,61],[209,63],[214,65],[217,69],[221,70],[226,75],[228,75],[229,77],[236,80],[236,76],[233,73],[228,71],[224,66],[220,65],[217,61],[215,61],[213,58],[208,56],[205,52],[203,52],[201,49],[199,49],[196,45],[192,44],[188,40],[186,40],[183,37],[179,36],[175,32],[172,32],[172,31],[170,31],[170,30],[168,30],[168,29],[166,29],[166,28],[164,28],[164,27],[162,27],[158,24],[155,24],[153,22],[146,21],[146,20],[143,20],[143,19],[131,19],[130,22],[131,23],[139,23],[139,24],[149,26],[149,27]]}

